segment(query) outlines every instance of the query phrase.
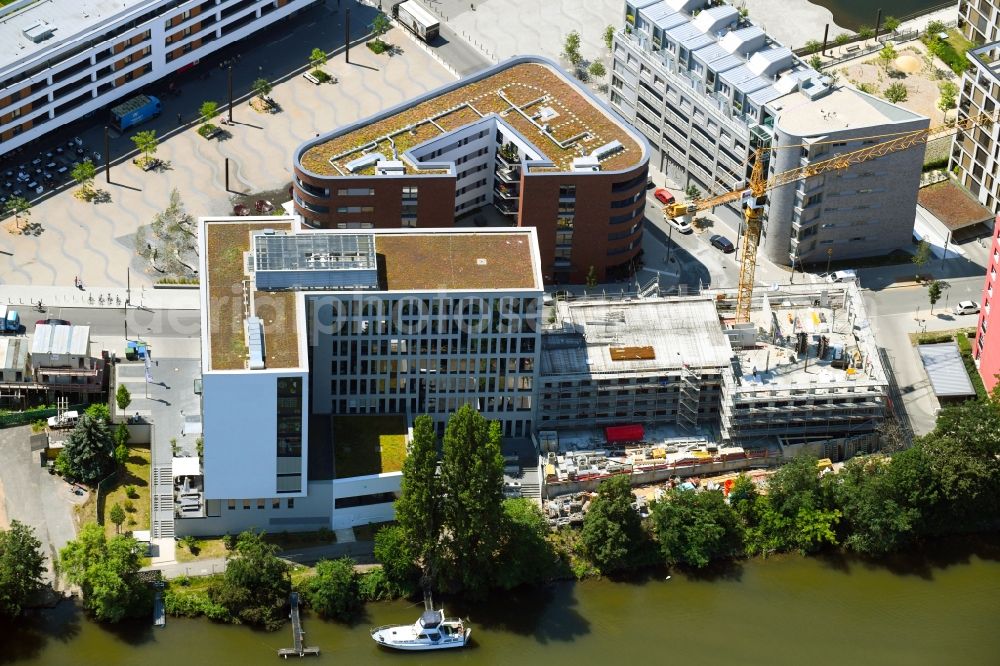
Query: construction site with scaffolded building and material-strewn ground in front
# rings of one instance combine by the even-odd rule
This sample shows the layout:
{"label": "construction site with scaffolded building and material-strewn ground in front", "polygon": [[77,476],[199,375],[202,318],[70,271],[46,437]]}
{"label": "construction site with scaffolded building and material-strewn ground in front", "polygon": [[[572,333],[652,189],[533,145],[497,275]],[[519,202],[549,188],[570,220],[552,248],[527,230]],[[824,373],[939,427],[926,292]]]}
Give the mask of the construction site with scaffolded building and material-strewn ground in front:
{"label": "construction site with scaffolded building and material-strewn ground in front", "polygon": [[560,300],[545,313],[538,450],[545,495],[877,448],[889,382],[853,282],[754,294]]}

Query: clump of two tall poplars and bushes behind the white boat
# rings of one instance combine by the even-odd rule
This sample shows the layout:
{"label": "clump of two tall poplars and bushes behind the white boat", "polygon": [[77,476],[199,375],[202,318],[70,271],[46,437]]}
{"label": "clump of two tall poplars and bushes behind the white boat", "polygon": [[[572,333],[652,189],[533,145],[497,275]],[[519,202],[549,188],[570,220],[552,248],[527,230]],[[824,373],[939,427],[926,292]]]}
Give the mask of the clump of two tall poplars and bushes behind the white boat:
{"label": "clump of two tall poplars and bushes behind the white boat", "polygon": [[440,464],[429,416],[417,417],[403,464],[397,525],[375,536],[375,557],[400,592],[433,585],[482,598],[551,576],[558,559],[537,506],[504,500],[501,432],[470,405],[448,419]]}

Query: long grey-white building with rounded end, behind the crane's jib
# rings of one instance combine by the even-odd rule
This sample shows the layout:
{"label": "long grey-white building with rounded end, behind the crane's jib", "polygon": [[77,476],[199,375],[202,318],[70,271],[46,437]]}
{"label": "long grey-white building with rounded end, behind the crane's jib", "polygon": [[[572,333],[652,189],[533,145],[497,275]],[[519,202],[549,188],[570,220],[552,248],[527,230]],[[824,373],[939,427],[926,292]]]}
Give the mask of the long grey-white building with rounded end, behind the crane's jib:
{"label": "long grey-white building with rounded end, behind the crane's jib", "polygon": [[[651,163],[703,194],[746,187],[757,148],[773,175],[929,124],[834,84],[714,0],[625,2],[611,105],[649,140]],[[915,147],[776,188],[760,251],[788,266],[908,246],[922,165]],[[714,212],[739,225],[739,205]]]}

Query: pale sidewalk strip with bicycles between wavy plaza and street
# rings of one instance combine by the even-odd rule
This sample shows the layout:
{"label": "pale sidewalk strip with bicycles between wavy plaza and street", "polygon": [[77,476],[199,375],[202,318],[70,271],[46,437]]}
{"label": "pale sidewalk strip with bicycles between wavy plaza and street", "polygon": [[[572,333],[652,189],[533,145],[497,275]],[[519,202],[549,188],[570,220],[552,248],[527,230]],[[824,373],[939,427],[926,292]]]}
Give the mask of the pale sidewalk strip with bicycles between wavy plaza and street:
{"label": "pale sidewalk strip with bicycles between wavy plaza and street", "polygon": [[125,287],[91,285],[87,285],[85,289],[77,289],[72,286],[5,284],[0,285],[0,305],[31,306],[41,300],[44,307],[121,309],[131,295],[133,307],[148,310],[197,310],[201,307],[199,291],[197,286],[155,289],[137,285],[130,291]]}

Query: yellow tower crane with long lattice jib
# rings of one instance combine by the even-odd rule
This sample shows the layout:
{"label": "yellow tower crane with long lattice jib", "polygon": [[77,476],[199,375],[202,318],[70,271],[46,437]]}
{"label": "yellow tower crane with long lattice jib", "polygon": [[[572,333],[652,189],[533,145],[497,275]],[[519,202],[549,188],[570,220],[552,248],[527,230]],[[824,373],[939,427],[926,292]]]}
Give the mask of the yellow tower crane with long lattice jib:
{"label": "yellow tower crane with long lattice jib", "polygon": [[[876,157],[882,157],[900,150],[906,150],[918,145],[924,145],[928,141],[939,139],[945,134],[956,130],[968,130],[980,125],[988,126],[996,122],[996,114],[981,113],[959,120],[952,125],[935,125],[927,129],[915,132],[902,132],[896,134],[882,134],[879,136],[858,137],[855,140],[877,140],[877,143],[865,146],[859,150],[835,155],[827,160],[812,162],[806,166],[789,169],[770,178],[764,177],[763,156],[765,152],[776,150],[775,148],[757,148],[754,152],[753,169],[750,172],[750,183],[748,189],[732,190],[714,197],[706,199],[694,199],[686,203],[676,203],[665,206],[663,214],[667,217],[686,217],[688,221],[699,211],[708,210],[715,206],[732,203],[738,199],[743,201],[744,232],[743,246],[740,249],[739,265],[740,278],[736,294],[736,322],[746,323],[750,321],[750,302],[753,298],[754,271],[757,268],[757,245],[760,242],[760,232],[763,222],[764,195],[776,187],[793,183],[803,178],[818,176],[828,171],[846,169],[855,164],[860,164]],[[820,146],[826,141],[817,141],[812,146]],[[781,148],[801,148],[800,145],[782,146]],[[794,269],[794,268],[793,268]]]}

